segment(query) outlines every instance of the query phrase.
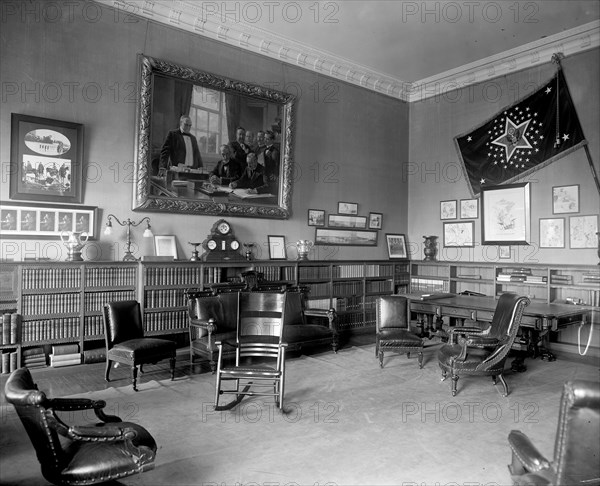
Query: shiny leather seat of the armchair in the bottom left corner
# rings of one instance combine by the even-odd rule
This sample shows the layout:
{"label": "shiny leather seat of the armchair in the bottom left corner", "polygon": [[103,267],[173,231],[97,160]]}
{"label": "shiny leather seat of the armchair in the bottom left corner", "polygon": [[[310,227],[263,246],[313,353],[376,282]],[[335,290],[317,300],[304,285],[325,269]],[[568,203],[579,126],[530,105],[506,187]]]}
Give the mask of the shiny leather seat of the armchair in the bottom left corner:
{"label": "shiny leather seat of the armchair in the bottom left corner", "polygon": [[119,425],[136,430],[137,436],[132,443],[140,448],[139,456],[132,455],[133,451],[127,448],[125,442],[73,442],[67,448],[67,455],[73,456],[62,471],[63,480],[73,484],[91,484],[91,479],[129,475],[140,466],[152,462],[156,454],[156,442],[150,433],[131,422]]}

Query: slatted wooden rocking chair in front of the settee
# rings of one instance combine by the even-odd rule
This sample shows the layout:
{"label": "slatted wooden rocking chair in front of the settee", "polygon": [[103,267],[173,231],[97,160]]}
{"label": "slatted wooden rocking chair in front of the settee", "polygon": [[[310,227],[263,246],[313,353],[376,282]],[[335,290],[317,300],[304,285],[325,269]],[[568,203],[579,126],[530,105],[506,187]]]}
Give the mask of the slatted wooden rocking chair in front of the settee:
{"label": "slatted wooden rocking chair in front of the settee", "polygon": [[[218,341],[215,410],[228,410],[245,396],[269,396],[283,410],[285,384],[286,299],[289,293],[240,292],[235,341]],[[235,363],[224,362],[223,351],[235,349]],[[251,361],[248,361],[248,358]],[[258,361],[258,359],[260,361]],[[225,383],[233,382],[233,388]],[[227,405],[220,406],[221,395],[235,395]]]}

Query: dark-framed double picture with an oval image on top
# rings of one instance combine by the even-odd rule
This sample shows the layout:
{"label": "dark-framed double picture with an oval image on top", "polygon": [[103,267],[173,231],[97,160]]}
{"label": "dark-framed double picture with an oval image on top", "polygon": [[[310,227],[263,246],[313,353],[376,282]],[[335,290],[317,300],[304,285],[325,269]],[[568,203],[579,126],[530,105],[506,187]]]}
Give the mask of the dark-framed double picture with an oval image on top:
{"label": "dark-framed double picture with an oval image on top", "polygon": [[82,201],[83,125],[13,113],[10,153],[11,199]]}

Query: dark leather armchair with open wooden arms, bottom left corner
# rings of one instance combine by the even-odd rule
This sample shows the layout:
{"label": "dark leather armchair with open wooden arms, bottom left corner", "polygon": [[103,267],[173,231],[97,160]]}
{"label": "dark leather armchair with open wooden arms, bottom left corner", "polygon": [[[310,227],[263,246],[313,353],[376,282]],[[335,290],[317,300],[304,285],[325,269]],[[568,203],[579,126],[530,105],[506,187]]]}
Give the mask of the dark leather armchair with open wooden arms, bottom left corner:
{"label": "dark leather armchair with open wooden arms, bottom left corner", "polygon": [[[63,486],[100,484],[154,468],[154,438],[140,425],[106,415],[104,400],[48,398],[27,368],[14,371],[4,390],[47,481]],[[56,413],[77,410],[94,410],[100,423],[68,425]]]}

